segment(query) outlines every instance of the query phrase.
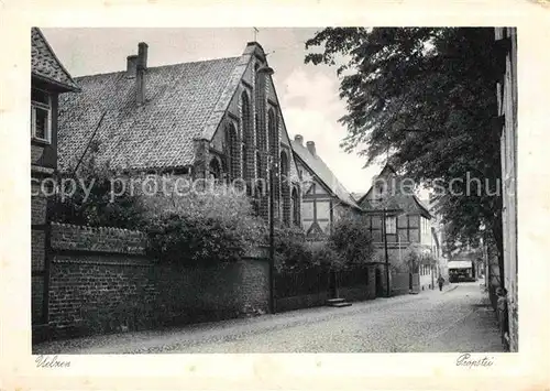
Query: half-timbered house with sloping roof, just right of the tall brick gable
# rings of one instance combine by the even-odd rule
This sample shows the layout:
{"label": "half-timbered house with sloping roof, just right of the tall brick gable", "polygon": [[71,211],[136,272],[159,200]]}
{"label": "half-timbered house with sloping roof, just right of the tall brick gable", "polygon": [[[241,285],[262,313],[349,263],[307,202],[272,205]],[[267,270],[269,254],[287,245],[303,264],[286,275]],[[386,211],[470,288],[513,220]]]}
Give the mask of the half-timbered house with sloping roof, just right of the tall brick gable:
{"label": "half-timbered house with sloping roof, just right of the tall brick gable", "polygon": [[304,145],[304,138],[296,134],[292,146],[302,183],[304,230],[308,239],[322,240],[341,214],[349,210],[361,213],[361,208],[318,155],[314,141]]}

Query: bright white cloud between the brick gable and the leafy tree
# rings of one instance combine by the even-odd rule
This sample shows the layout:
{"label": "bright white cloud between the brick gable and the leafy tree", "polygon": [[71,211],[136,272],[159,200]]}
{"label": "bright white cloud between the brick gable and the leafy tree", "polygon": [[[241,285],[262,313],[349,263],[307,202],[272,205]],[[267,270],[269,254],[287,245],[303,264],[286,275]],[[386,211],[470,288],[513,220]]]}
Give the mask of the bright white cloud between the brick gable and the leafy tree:
{"label": "bright white cloud between the brick gable and the leafy tree", "polygon": [[290,137],[301,134],[305,141],[315,141],[317,153],[348,191],[366,192],[380,167],[364,170],[363,158],[340,148],[346,129],[338,119],[345,106],[338,95],[338,79],[319,69],[296,68],[284,80],[279,96],[287,130]]}

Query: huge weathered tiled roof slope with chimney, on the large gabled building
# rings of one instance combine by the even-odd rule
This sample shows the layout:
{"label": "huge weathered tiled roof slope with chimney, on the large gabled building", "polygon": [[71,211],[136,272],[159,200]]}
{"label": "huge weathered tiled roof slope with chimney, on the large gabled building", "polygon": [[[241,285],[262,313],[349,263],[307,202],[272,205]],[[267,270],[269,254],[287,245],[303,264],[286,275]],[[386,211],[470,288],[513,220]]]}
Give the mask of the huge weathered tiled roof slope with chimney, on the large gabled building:
{"label": "huge weathered tiled roof slope with chimney, on the large gabled building", "polygon": [[59,100],[59,166],[94,140],[99,162],[112,169],[178,167],[193,163],[194,139],[211,138],[242,77],[243,57],[150,67],[146,102],[135,102],[136,79],[125,72],[77,78],[82,91]]}

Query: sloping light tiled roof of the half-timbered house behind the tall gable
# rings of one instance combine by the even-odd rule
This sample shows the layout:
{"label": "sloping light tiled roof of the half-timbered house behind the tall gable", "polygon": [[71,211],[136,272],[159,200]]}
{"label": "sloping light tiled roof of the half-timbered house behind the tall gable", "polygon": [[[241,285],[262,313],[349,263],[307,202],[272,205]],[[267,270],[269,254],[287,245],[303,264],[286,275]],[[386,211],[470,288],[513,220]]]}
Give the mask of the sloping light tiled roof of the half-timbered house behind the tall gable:
{"label": "sloping light tiled roof of the half-timbered house behind the tall gable", "polygon": [[359,208],[350,192],[348,192],[340,181],[338,181],[334,173],[332,173],[319,155],[314,156],[307,146],[295,140],[292,140],[290,144],[296,155],[319,177],[319,180],[321,180],[328,188],[330,188],[334,196],[337,196],[342,203]]}

